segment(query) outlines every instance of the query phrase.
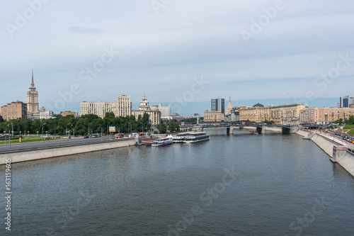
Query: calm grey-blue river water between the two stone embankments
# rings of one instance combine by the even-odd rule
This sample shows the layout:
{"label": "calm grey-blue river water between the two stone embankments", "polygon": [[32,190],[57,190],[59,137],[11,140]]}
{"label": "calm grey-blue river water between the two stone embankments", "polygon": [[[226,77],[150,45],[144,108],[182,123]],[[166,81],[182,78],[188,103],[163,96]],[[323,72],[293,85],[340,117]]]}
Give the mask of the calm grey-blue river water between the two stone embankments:
{"label": "calm grey-blue river water between the two stone embankments", "polygon": [[354,178],[312,141],[205,131],[192,145],[12,164],[0,235],[354,234]]}

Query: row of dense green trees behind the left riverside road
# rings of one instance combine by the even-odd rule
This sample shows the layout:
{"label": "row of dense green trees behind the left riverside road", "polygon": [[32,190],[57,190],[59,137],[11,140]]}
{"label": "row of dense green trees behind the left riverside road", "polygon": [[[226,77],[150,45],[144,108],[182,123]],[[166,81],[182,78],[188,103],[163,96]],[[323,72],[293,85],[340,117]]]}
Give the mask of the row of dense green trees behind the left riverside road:
{"label": "row of dense green trees behind the left riverside road", "polygon": [[75,135],[88,135],[90,133],[108,133],[108,127],[115,126],[116,133],[148,132],[151,128],[149,115],[144,113],[135,119],[135,116],[115,117],[114,113],[106,113],[105,118],[96,115],[74,116],[55,115],[52,119],[30,120],[28,118],[6,121],[0,116],[0,133],[12,130],[13,134],[41,134],[65,135],[66,130]]}

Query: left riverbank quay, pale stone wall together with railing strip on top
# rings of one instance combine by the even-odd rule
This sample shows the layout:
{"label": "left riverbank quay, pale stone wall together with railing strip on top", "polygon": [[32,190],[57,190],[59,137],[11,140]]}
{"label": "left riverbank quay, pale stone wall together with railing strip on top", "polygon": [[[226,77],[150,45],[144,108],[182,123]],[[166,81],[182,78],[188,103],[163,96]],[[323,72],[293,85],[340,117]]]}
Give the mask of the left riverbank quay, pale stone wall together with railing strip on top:
{"label": "left riverbank quay, pale stone wall together with railing strip on top", "polygon": [[0,152],[0,164],[5,164],[6,159],[11,159],[11,163],[28,162],[37,159],[129,147],[135,145],[136,142],[137,140],[135,140],[135,138],[127,137],[118,140],[97,140],[97,142],[91,143],[63,144],[59,142],[45,147],[35,147],[35,145],[33,145],[23,150],[7,150]]}

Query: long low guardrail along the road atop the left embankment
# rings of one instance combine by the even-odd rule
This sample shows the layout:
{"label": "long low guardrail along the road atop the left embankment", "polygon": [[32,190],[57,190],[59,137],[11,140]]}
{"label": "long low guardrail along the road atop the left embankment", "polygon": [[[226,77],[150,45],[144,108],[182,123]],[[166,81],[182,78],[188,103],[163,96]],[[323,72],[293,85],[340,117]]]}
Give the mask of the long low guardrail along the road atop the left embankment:
{"label": "long low guardrail along the road atop the left embankment", "polygon": [[126,140],[134,140],[134,137],[124,137],[116,140],[97,140],[96,142],[79,142],[79,143],[56,143],[53,145],[46,145],[45,147],[28,147],[20,150],[5,150],[0,151],[0,154],[8,154],[13,152],[28,152],[28,151],[35,151],[35,150],[46,150],[52,148],[59,148],[59,147],[76,147],[76,146],[84,146],[84,145],[94,145],[99,143],[106,143],[106,142],[122,142]]}

